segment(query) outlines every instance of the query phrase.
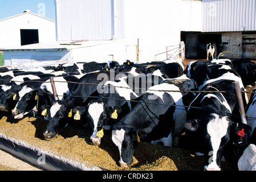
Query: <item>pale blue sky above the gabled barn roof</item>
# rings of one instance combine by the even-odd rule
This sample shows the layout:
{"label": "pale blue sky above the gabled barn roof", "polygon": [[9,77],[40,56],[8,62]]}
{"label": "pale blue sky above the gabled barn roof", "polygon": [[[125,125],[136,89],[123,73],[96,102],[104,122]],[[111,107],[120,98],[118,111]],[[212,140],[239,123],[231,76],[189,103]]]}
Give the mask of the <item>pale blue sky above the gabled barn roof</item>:
{"label": "pale blue sky above the gabled barn roof", "polygon": [[0,19],[23,13],[25,10],[54,20],[54,0],[0,0]]}

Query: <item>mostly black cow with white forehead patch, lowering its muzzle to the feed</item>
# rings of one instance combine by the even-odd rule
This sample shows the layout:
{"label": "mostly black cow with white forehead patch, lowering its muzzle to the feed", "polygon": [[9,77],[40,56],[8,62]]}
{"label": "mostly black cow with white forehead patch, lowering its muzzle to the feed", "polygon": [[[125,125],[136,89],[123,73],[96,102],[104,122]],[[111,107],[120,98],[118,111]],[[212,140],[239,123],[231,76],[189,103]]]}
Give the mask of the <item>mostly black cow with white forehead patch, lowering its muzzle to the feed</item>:
{"label": "mostly black cow with white forehead patch, lowering its muzzle to the feed", "polygon": [[[70,121],[72,117],[72,109],[76,106],[87,105],[91,97],[99,96],[98,90],[106,81],[115,80],[115,76],[119,72],[100,71],[92,72],[81,77],[70,90],[70,94],[63,101],[56,101],[48,110],[49,121],[43,135],[46,139],[56,136]],[[128,75],[128,73],[127,73]]]}

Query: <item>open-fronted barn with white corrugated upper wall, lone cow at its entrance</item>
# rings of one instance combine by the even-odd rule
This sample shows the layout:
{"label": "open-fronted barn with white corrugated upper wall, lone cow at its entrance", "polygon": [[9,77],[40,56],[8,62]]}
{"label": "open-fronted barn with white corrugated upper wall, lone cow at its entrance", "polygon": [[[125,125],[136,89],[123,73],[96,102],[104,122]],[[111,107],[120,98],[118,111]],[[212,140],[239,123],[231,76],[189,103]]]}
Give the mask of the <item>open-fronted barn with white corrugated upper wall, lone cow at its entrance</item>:
{"label": "open-fronted barn with white corrugated upper wall, lone cow at its entrance", "polygon": [[186,57],[206,59],[206,44],[216,43],[229,59],[256,59],[256,0],[202,0],[201,31],[184,31]]}

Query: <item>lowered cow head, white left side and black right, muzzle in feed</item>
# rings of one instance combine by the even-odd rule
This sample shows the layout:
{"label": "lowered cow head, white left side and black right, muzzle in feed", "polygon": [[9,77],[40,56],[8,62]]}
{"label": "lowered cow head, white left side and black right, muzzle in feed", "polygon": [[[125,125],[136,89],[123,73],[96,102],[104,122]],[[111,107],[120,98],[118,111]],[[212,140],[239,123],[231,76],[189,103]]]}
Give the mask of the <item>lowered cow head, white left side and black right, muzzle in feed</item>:
{"label": "lowered cow head, white left side and black right, muzzle in feed", "polygon": [[[117,125],[118,126],[118,125]],[[104,127],[105,129],[107,126]],[[120,154],[120,166],[128,167],[132,164],[134,148],[139,142],[141,133],[134,127],[112,128],[112,142],[118,147]]]}

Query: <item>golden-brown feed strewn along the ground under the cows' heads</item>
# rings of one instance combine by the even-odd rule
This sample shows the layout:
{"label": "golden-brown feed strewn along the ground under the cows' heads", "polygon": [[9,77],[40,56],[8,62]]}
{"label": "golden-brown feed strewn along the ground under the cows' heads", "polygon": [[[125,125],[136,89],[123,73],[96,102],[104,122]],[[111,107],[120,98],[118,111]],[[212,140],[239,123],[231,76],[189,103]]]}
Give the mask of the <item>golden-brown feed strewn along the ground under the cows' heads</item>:
{"label": "golden-brown feed strewn along the ground under the cows' heads", "polygon": [[[100,146],[90,141],[88,128],[78,129],[68,126],[56,138],[43,139],[47,121],[26,117],[21,120],[3,116],[0,120],[0,133],[9,138],[22,140],[34,147],[53,152],[60,156],[88,161],[91,164],[111,170],[202,170],[203,158],[189,154],[181,148],[155,146],[140,142],[133,154],[133,164],[129,168],[119,167],[119,151],[112,143],[111,135],[105,133]],[[222,163],[224,170],[237,170],[236,164]]]}

